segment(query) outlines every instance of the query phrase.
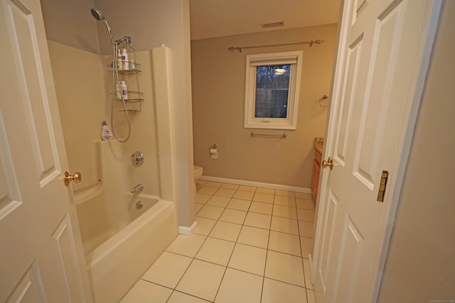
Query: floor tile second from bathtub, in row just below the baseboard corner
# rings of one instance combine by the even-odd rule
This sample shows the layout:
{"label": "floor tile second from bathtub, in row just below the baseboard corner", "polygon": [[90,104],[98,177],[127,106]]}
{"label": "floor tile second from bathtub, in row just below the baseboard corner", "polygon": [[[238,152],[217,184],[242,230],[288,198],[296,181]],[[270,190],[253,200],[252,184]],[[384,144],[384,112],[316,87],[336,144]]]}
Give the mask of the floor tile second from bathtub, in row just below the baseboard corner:
{"label": "floor tile second from bathtub, in row just below the baseboard corner", "polygon": [[226,266],[234,246],[233,242],[209,237],[200,248],[196,258]]}

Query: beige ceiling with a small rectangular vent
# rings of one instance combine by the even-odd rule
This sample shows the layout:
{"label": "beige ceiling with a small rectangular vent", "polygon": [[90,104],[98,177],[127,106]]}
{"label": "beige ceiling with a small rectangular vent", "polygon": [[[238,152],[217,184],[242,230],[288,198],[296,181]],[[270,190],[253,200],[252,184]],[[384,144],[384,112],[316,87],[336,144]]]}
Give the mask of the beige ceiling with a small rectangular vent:
{"label": "beige ceiling with a small rectangular vent", "polygon": [[[191,40],[338,22],[341,0],[191,0]],[[284,21],[284,26],[262,28]]]}

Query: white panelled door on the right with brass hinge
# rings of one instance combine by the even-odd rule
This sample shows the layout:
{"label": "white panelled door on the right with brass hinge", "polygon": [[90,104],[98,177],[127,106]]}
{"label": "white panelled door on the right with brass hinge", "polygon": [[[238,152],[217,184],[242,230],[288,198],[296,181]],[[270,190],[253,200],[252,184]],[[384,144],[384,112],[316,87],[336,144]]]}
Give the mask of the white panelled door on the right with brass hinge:
{"label": "white panelled door on the right with brass hinge", "polygon": [[324,153],[333,170],[323,170],[312,266],[318,303],[375,301],[440,6],[344,2]]}

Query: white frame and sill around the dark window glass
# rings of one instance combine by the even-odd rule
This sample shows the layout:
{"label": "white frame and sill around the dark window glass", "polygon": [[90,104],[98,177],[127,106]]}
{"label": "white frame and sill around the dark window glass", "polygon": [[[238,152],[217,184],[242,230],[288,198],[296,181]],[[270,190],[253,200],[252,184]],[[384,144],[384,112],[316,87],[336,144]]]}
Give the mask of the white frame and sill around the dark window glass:
{"label": "white frame and sill around the dark window glass", "polygon": [[[245,128],[296,129],[299,107],[301,50],[281,53],[247,55],[245,78]],[[287,118],[255,118],[257,66],[291,65]]]}

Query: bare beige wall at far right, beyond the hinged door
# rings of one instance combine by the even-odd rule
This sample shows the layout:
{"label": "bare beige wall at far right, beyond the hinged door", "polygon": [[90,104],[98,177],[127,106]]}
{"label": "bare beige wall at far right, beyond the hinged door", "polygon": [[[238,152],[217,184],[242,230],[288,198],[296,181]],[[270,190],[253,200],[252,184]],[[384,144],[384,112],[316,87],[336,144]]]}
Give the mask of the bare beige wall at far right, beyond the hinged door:
{"label": "bare beige wall at far right, beyond the hinged door", "polygon": [[446,1],[445,6],[385,264],[380,303],[455,300],[455,2]]}

